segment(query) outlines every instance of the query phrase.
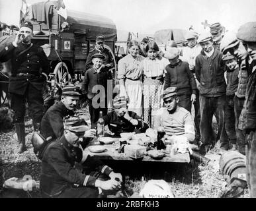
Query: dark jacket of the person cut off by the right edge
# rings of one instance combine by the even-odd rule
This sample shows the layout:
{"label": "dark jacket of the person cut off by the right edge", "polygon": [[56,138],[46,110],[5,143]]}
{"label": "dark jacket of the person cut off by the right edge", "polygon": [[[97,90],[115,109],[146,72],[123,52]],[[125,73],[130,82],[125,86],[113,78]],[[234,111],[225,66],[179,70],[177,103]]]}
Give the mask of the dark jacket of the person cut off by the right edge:
{"label": "dark jacket of the person cut off by the right edge", "polygon": [[[250,68],[256,68],[255,61],[251,63]],[[248,78],[245,103],[239,117],[238,127],[240,130],[247,131],[247,133],[256,129],[256,71],[253,71]]]}

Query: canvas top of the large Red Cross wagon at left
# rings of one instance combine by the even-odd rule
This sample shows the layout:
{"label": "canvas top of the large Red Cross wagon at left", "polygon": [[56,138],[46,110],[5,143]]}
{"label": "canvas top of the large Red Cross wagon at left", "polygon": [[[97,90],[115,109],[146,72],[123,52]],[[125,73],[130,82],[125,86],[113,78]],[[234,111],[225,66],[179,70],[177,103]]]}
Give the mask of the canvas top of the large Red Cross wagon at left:
{"label": "canvas top of the large Red Cross wagon at left", "polygon": [[21,22],[31,21],[34,26],[34,34],[38,31],[44,32],[46,36],[58,34],[60,24],[66,21],[70,26],[67,32],[86,34],[87,40],[95,40],[97,34],[103,34],[107,42],[116,40],[116,26],[109,18],[67,9],[67,20],[65,20],[58,15],[56,6],[57,1],[30,5]]}

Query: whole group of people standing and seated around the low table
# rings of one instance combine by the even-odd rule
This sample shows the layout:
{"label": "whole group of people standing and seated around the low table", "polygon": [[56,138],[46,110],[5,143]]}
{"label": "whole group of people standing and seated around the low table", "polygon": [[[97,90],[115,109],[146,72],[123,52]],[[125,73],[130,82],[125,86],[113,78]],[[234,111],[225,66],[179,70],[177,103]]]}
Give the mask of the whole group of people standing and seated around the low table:
{"label": "whole group of people standing and seated around the low table", "polygon": [[[42,86],[50,65],[42,47],[31,43],[32,24],[24,22],[14,42],[0,49],[0,61],[11,59],[12,63],[9,92],[19,152],[26,150],[26,102],[34,131],[40,131],[47,142],[39,153],[44,196],[99,196],[120,188],[122,175],[99,161],[92,162],[83,151],[88,138],[95,136],[99,112],[103,111],[105,125],[114,136],[163,127],[166,142],[196,142],[201,154],[206,154],[217,140],[223,150],[246,151],[247,183],[250,195],[255,197],[255,28],[256,22],[248,22],[237,34],[224,34],[221,24],[216,23],[204,34],[187,32],[188,45],[183,49],[169,41],[161,51],[149,41],[144,55],[140,55],[140,44],[131,40],[128,55],[118,61],[118,92],[112,95],[110,90],[110,99],[114,96],[110,102],[108,85],[112,85],[110,69],[114,63],[104,47],[104,36],[99,35],[87,58],[81,92],[76,86],[65,86],[60,102],[43,113]],[[74,117],[80,96],[89,100],[91,129]],[[213,115],[217,135],[212,129]],[[73,167],[75,162],[82,164],[83,172]]]}

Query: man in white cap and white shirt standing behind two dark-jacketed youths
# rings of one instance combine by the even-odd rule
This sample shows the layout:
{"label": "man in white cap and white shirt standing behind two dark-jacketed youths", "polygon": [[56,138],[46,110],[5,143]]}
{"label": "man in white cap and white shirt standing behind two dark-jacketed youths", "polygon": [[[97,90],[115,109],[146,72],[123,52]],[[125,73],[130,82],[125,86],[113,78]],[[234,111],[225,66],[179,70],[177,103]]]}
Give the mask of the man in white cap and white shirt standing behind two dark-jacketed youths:
{"label": "man in white cap and white shirt standing behind two dark-jacketed youths", "polygon": [[[188,42],[187,47],[183,47],[181,52],[181,60],[189,63],[189,69],[194,75],[196,80],[196,86],[199,82],[196,79],[196,73],[194,71],[194,66],[196,65],[196,57],[200,54],[202,48],[198,45],[198,33],[190,30],[185,34],[185,39]],[[194,102],[194,125],[196,126],[196,140],[200,140],[200,104],[199,104],[199,90],[196,89],[196,101]]]}

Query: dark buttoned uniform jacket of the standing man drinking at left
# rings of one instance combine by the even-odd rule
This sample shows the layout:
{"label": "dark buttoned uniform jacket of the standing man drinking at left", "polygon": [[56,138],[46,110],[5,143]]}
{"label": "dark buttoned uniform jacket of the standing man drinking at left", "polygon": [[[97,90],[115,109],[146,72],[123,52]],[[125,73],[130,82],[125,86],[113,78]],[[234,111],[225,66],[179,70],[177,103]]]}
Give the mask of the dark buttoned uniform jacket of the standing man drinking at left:
{"label": "dark buttoned uniform jacket of the standing man drinking at left", "polygon": [[15,47],[11,43],[1,50],[0,55],[1,61],[11,59],[10,93],[24,95],[28,83],[42,90],[43,82],[50,73],[50,64],[42,47],[22,43]]}

